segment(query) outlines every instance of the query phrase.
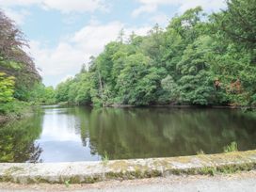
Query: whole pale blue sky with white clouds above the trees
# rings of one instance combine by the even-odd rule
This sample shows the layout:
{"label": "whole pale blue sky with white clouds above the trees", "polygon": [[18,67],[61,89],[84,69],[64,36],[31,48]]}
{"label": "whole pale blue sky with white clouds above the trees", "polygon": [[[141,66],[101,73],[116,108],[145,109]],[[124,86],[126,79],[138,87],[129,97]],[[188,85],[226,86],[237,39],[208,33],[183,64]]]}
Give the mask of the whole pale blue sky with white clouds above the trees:
{"label": "whole pale blue sky with white clouds above the trees", "polygon": [[225,8],[224,0],[0,0],[0,8],[29,40],[28,54],[43,83],[54,86],[79,72],[90,56],[117,40],[120,30],[146,35],[176,14],[201,6]]}

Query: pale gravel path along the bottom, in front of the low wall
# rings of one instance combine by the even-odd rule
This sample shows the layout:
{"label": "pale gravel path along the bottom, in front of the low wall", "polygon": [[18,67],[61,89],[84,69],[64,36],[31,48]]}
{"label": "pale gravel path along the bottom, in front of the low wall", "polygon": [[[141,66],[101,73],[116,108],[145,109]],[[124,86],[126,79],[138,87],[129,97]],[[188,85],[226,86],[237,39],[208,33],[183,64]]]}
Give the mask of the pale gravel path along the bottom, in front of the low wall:
{"label": "pale gravel path along the bottom, in front of the low wall", "polygon": [[8,184],[0,183],[0,191],[114,191],[114,192],[216,192],[256,191],[256,171],[231,175],[211,176],[168,176],[134,181],[109,181],[97,184]]}

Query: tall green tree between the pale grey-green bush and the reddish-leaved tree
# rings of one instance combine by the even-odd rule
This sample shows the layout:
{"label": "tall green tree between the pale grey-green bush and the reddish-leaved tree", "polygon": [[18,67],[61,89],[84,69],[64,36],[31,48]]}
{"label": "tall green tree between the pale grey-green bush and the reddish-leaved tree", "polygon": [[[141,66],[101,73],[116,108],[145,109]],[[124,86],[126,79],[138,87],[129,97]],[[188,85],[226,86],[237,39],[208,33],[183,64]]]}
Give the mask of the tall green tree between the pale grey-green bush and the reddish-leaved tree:
{"label": "tall green tree between the pale grey-green bush and the reddish-leaved tree", "polygon": [[215,101],[214,79],[206,58],[211,41],[210,37],[201,37],[188,45],[177,65],[181,74],[177,84],[182,103],[207,105]]}

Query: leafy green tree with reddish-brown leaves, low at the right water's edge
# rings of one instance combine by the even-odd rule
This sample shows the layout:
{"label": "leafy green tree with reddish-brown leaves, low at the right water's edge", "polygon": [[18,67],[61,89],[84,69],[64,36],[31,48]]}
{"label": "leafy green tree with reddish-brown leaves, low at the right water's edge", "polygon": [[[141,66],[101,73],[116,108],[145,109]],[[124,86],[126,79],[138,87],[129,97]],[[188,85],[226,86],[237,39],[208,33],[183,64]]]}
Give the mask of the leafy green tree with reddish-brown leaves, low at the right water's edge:
{"label": "leafy green tree with reddish-brown leaves, low at the right water's edge", "polygon": [[230,43],[221,53],[214,51],[213,55],[210,59],[211,72],[219,81],[219,103],[242,106],[256,101],[253,99],[256,67],[251,63],[250,54]]}

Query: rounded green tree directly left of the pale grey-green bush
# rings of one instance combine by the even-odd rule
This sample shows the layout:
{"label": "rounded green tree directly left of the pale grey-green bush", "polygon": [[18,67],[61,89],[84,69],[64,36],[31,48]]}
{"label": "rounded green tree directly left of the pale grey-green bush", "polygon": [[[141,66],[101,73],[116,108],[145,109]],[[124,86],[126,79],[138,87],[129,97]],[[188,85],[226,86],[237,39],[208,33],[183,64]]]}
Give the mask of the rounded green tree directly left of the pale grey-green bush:
{"label": "rounded green tree directly left of the pale grey-green bush", "polygon": [[128,56],[118,77],[118,92],[123,104],[147,105],[160,84],[161,72],[151,68],[151,59],[142,54]]}

